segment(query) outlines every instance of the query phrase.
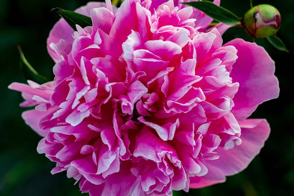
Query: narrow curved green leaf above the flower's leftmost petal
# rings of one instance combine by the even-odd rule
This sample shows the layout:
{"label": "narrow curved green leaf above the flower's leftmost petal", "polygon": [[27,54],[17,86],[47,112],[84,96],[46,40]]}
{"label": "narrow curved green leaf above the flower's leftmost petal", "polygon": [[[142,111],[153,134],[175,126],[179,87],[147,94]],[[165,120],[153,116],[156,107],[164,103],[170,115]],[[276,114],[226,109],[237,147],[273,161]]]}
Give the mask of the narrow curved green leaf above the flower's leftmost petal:
{"label": "narrow curved green leaf above the flower's leftmost petal", "polygon": [[26,60],[23,50],[17,46],[21,57],[21,70],[25,75],[25,79],[39,82],[41,84],[48,82],[48,79],[39,74]]}

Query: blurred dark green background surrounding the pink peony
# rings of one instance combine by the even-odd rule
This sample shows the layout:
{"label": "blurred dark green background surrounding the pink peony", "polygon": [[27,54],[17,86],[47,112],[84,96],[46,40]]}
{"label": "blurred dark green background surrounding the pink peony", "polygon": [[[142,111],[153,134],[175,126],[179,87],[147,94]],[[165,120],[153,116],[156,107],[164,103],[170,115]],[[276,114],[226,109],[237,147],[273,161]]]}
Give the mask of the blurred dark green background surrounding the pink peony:
{"label": "blurred dark green background surrounding the pink peony", "polygon": [[[36,151],[41,139],[21,118],[21,94],[7,89],[14,81],[25,83],[19,68],[17,45],[36,70],[52,79],[53,61],[46,49],[49,31],[58,20],[50,9],[74,10],[87,0],[0,0],[0,196],[79,196],[78,185],[66,172],[51,175],[54,163]],[[282,15],[278,36],[294,52],[294,0],[255,0],[268,3]],[[240,17],[250,8],[249,0],[222,0],[221,5]],[[231,28],[224,42],[235,37],[250,41],[242,28]],[[266,118],[271,134],[249,167],[223,184],[188,194],[199,196],[290,196],[294,195],[294,90],[293,53],[274,49],[267,40],[257,40],[276,62],[280,97],[258,107],[252,118]],[[123,179],[122,179],[123,180]]]}

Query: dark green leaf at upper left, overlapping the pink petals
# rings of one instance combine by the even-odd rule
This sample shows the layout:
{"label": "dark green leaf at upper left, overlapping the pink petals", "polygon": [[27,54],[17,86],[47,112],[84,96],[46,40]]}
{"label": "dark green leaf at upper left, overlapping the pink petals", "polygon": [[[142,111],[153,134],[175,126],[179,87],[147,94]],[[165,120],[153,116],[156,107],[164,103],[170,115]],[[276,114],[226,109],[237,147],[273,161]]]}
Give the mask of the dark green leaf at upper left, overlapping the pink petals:
{"label": "dark green leaf at upper left, overlapping the pink petals", "polygon": [[90,17],[78,14],[72,11],[64,10],[61,8],[51,9],[51,12],[57,12],[60,17],[64,18],[64,20],[75,30],[75,25],[80,25],[82,28],[86,26],[92,26],[92,20]]}

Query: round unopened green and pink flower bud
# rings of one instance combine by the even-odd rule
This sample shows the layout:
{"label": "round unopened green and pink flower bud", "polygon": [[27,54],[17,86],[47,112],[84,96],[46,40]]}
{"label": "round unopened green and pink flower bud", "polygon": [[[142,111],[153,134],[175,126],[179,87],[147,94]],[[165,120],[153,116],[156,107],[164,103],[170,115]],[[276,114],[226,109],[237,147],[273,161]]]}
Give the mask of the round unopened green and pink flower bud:
{"label": "round unopened green and pink flower bud", "polygon": [[266,38],[276,34],[281,24],[279,11],[268,4],[252,7],[245,13],[245,30],[255,38]]}

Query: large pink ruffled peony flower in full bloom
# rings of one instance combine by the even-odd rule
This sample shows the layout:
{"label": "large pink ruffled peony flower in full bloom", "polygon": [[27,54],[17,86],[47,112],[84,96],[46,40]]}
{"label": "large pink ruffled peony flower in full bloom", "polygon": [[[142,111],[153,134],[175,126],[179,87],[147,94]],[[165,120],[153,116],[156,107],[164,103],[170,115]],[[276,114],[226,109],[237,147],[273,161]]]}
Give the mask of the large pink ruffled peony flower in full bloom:
{"label": "large pink ruffled peony flower in full bloom", "polygon": [[9,86],[37,105],[23,118],[52,174],[67,171],[91,196],[171,195],[224,182],[259,153],[269,124],[247,118],[279,95],[265,49],[222,45],[217,28],[204,32],[212,19],[178,0],[76,11],[93,26],[53,27],[54,81]]}

